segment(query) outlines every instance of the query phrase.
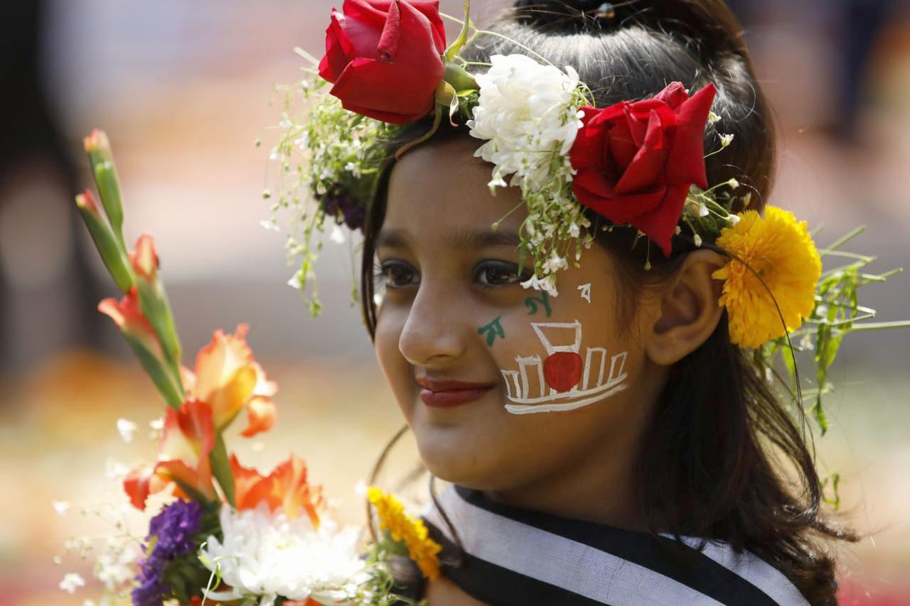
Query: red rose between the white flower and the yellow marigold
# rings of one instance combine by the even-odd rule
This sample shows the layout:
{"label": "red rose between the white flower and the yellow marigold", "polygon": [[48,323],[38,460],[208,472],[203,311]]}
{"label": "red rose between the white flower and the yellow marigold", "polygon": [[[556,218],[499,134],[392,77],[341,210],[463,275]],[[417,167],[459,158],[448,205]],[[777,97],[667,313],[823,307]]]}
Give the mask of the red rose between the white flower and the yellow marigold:
{"label": "red rose between the white flower and the yellow marigold", "polygon": [[703,136],[715,92],[709,84],[690,98],[673,82],[645,101],[581,107],[570,152],[581,205],[636,227],[669,257],[689,189],[708,187]]}

